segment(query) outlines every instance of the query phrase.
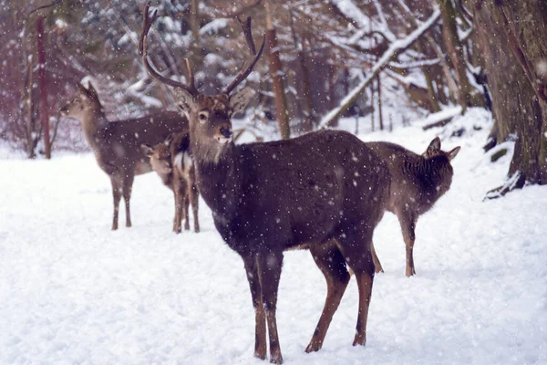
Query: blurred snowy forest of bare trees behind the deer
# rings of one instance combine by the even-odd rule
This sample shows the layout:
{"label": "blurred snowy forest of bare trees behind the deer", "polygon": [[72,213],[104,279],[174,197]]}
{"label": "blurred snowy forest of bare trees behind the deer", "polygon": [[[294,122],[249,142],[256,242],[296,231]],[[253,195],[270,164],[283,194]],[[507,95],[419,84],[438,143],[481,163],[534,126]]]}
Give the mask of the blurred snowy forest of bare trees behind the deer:
{"label": "blurred snowy forest of bare trees behind the deer", "polygon": [[[96,84],[111,120],[175,110],[171,90],[149,78],[139,59],[145,3],[0,0],[0,139],[34,157],[46,152],[46,128],[54,151],[85,150],[77,121],[57,115],[83,78]],[[352,91],[355,98],[343,113],[331,114],[329,126],[335,126],[339,117],[351,117],[356,132],[391,129],[448,107],[459,106],[464,112],[478,106],[493,109],[496,120],[487,148],[535,131],[532,144],[521,139],[516,151],[522,161],[529,161],[532,153],[535,165],[543,167],[531,172],[524,166],[528,162],[515,162],[511,174],[526,171],[529,180],[545,183],[546,143],[541,131],[547,115],[545,101],[535,90],[538,82],[547,83],[536,80],[545,73],[537,71],[537,65],[542,65],[547,51],[545,42],[532,46],[547,36],[547,11],[541,3],[156,0],[152,7],[162,17],[150,31],[149,53],[166,76],[180,79],[185,78],[184,58],[189,57],[198,86],[214,93],[230,82],[248,55],[236,17],[253,16],[255,43],[269,35],[263,59],[247,81],[258,90],[255,106],[247,110],[253,118],[242,125],[253,139],[315,130]],[[431,19],[436,11],[439,16]],[[518,21],[526,16],[535,21]],[[38,37],[40,18],[44,36]],[[428,20],[432,23],[425,32],[408,39]],[[536,26],[542,36],[535,33]],[[38,85],[38,39],[46,50],[44,88]],[[397,48],[403,40],[411,42]],[[393,57],[386,59],[395,48]],[[513,78],[515,73],[519,76]],[[364,82],[366,87],[357,89]],[[44,89],[46,102],[40,102]],[[516,90],[521,96],[510,98]],[[531,112],[536,116],[532,121]]]}

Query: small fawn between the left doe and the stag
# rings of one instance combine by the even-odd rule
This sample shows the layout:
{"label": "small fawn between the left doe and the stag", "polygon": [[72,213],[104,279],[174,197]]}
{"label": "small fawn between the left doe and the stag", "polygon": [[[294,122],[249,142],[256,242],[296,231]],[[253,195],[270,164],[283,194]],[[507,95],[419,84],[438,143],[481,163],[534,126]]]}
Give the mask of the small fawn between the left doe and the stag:
{"label": "small fawn between the left doe and the stag", "polygon": [[155,146],[140,145],[142,152],[150,158],[150,165],[160,175],[161,181],[175,194],[175,218],[173,232],[181,233],[182,213],[184,229],[190,229],[189,203],[194,217],[194,232],[200,232],[198,220],[199,193],[196,176],[190,155],[190,133],[188,130],[170,134],[162,143]]}

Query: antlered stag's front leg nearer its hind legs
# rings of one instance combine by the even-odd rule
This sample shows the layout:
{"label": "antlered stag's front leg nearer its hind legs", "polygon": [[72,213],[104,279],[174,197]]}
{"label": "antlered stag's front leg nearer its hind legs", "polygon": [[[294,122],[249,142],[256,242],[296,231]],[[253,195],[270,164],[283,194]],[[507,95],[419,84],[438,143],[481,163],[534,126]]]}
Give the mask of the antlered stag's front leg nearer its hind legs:
{"label": "antlered stag's front leg nearer its hind legs", "polygon": [[279,336],[277,334],[277,320],[275,310],[277,306],[277,290],[279,278],[283,266],[283,252],[275,253],[267,251],[257,255],[258,273],[260,275],[260,286],[262,288],[263,307],[266,312],[266,322],[270,337],[270,362],[273,364],[283,363]]}

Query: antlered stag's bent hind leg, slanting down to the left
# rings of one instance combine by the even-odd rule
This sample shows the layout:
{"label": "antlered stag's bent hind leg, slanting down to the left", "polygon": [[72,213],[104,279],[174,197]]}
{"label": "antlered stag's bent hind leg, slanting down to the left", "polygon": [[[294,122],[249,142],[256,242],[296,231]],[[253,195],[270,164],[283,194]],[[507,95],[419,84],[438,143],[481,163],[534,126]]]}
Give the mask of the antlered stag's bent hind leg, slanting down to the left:
{"label": "antlered stag's bent hind leg, slanting down to the left", "polygon": [[305,348],[305,352],[308,353],[318,351],[323,346],[326,331],[344,296],[350,278],[346,260],[335,245],[314,247],[310,249],[310,253],[314,257],[315,264],[325,276],[326,299],[325,308],[323,308],[321,318],[315,328],[314,336]]}

